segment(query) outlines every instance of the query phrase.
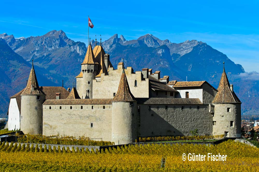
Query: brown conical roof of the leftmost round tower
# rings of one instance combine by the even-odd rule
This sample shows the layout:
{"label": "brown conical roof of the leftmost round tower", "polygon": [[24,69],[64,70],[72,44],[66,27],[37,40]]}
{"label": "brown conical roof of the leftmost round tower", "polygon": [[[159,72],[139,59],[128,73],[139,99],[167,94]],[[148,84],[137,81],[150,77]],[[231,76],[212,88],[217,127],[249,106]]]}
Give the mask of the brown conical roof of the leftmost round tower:
{"label": "brown conical roof of the leftmost round tower", "polygon": [[27,85],[23,90],[23,92],[21,93],[21,95],[40,95],[40,94],[44,94],[44,92],[39,87],[35,70],[33,67],[33,61],[32,61],[32,69],[30,72],[30,76],[28,78]]}

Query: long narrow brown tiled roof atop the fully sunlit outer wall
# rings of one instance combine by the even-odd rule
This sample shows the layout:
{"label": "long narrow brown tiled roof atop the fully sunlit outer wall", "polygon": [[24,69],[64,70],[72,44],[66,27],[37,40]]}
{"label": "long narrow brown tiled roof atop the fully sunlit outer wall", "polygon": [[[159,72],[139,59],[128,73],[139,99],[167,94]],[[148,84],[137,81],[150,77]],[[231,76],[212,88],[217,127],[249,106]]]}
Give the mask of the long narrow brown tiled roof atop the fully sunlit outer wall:
{"label": "long narrow brown tiled roof atop the fully sunlit outer wall", "polygon": [[46,100],[43,105],[111,105],[112,99],[55,99]]}

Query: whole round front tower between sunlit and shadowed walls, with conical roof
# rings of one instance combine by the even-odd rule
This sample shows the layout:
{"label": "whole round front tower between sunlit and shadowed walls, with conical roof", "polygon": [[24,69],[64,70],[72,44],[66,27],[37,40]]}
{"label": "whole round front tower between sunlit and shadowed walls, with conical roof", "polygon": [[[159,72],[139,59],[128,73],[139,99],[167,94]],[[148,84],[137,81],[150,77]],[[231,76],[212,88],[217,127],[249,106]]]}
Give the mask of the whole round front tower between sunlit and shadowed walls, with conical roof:
{"label": "whole round front tower between sunlit and shadowed walls, with conical roof", "polygon": [[132,143],[137,139],[137,102],[123,68],[117,94],[112,99],[112,142]]}

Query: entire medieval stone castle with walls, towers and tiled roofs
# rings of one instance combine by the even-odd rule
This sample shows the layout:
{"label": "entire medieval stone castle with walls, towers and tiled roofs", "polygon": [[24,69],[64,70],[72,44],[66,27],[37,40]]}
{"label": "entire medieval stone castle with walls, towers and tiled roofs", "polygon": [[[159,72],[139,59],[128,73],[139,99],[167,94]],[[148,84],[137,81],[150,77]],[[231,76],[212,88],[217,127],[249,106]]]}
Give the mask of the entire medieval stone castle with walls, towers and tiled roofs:
{"label": "entire medieval stone castle with walls, towers and tiled roofs", "polygon": [[39,87],[32,69],[26,87],[10,98],[8,129],[25,134],[102,138],[115,144],[138,137],[240,137],[241,102],[223,67],[218,89],[206,81],[169,81],[160,71],[117,69],[101,45],[89,44],[76,87]]}

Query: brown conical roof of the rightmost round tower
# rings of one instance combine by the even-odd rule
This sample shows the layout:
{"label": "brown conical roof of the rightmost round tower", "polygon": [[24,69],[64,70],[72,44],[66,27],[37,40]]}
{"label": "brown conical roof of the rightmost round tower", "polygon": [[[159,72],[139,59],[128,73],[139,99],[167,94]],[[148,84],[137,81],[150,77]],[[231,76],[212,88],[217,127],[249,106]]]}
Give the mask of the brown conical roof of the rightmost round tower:
{"label": "brown conical roof of the rightmost round tower", "polygon": [[219,82],[218,93],[212,103],[241,103],[234,93],[234,90],[230,90],[227,74],[225,72],[225,66],[223,66],[223,73]]}

